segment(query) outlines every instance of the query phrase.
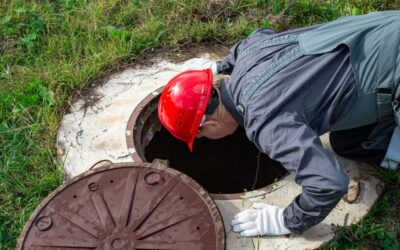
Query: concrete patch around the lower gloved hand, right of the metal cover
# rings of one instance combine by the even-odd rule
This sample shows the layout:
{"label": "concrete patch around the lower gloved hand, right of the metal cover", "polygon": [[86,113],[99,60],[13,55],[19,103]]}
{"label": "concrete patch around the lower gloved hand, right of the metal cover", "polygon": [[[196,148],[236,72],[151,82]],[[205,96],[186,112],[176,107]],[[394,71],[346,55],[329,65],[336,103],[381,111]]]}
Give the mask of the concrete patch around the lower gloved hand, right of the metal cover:
{"label": "concrete patch around the lower gloved hand, right of the metal cover", "polygon": [[[324,145],[328,146],[328,137],[322,137]],[[290,235],[276,237],[243,238],[230,230],[230,220],[239,211],[251,206],[253,202],[264,202],[278,207],[286,207],[292,199],[301,193],[301,187],[293,181],[293,175],[278,181],[274,191],[262,195],[262,191],[253,191],[245,194],[242,200],[231,200],[229,202],[217,200],[216,203],[222,212],[222,217],[227,230],[227,249],[252,250],[254,244],[259,244],[261,249],[315,249],[335,236],[337,226],[348,226],[357,223],[364,217],[375,203],[382,184],[377,178],[368,176],[370,166],[364,163],[356,163],[337,157],[340,165],[345,169],[351,179],[350,185],[357,183],[360,186],[359,194],[353,203],[346,201],[347,197],[339,202],[329,216],[322,223],[312,227],[301,236]],[[256,196],[255,198],[246,198]]]}

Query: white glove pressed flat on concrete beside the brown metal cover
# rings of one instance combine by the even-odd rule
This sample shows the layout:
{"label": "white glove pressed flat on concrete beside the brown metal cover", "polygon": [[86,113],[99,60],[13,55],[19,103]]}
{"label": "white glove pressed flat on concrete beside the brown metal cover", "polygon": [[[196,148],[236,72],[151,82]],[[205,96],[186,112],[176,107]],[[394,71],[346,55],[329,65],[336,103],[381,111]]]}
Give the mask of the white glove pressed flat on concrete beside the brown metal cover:
{"label": "white glove pressed flat on concrete beside the brown metal cover", "polygon": [[283,222],[283,211],[283,208],[254,203],[234,217],[231,222],[233,231],[241,236],[289,234]]}

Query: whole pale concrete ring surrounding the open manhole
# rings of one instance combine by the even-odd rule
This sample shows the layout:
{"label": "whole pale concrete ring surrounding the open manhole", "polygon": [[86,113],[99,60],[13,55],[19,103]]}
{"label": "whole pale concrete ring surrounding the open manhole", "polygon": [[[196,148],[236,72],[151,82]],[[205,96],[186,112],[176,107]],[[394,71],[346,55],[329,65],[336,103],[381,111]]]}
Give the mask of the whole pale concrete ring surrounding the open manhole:
{"label": "whole pale concrete ring surrounding the open manhole", "polygon": [[[128,150],[125,141],[131,113],[145,96],[164,85],[182,68],[182,63],[155,59],[151,67],[132,68],[113,75],[96,87],[92,95],[74,103],[62,121],[56,144],[66,176],[81,174],[101,160],[132,161],[130,151],[135,149]],[[326,135],[322,136],[322,141],[329,149]],[[302,236],[243,238],[232,232],[229,224],[234,214],[250,207],[252,202],[287,206],[301,192],[292,175],[278,181],[269,193],[261,189],[246,193],[242,199],[216,200],[227,231],[227,249],[257,249],[253,244],[259,245],[259,250],[314,249],[333,239],[333,226],[357,223],[376,201],[381,184],[368,175],[370,166],[341,157],[338,160],[352,180],[352,189],[359,187],[359,190],[344,197],[321,224]]]}

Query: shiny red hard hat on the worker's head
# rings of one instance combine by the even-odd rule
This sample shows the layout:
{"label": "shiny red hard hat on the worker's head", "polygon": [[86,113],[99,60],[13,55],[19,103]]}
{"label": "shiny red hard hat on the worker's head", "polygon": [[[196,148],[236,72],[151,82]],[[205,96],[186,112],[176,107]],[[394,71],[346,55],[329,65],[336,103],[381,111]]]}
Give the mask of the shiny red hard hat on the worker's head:
{"label": "shiny red hard hat on the worker's head", "polygon": [[176,75],[165,86],[158,103],[158,117],[190,151],[212,91],[212,71],[189,70]]}

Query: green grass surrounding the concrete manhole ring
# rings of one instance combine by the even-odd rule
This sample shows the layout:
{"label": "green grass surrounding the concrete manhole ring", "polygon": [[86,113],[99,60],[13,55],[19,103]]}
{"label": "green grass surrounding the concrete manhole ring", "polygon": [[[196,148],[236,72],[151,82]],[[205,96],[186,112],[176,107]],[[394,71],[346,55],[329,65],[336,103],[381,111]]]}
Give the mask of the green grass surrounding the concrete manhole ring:
{"label": "green grass surrounding the concrete manhole ring", "polygon": [[[153,51],[230,46],[342,15],[399,9],[398,0],[0,0],[0,249],[15,248],[35,207],[62,183],[58,124],[72,96]],[[398,247],[399,178],[368,218],[328,248]],[[397,177],[393,177],[397,176]],[[389,249],[389,248],[388,248]]]}

